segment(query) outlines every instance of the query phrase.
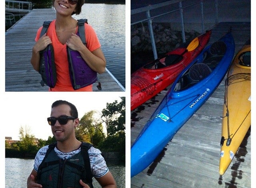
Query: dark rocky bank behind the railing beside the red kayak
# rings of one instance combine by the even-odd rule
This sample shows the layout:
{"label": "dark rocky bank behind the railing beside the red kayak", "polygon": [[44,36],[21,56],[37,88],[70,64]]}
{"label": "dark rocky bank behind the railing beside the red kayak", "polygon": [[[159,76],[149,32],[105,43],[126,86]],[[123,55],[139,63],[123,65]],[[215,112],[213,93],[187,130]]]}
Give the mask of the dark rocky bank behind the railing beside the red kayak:
{"label": "dark rocky bank behind the railing beside the red kayak", "polygon": [[[169,24],[153,23],[158,57],[183,44],[182,32],[172,30]],[[185,32],[186,41],[192,41],[200,33]],[[147,23],[131,25],[131,73],[154,60],[150,32]]]}

